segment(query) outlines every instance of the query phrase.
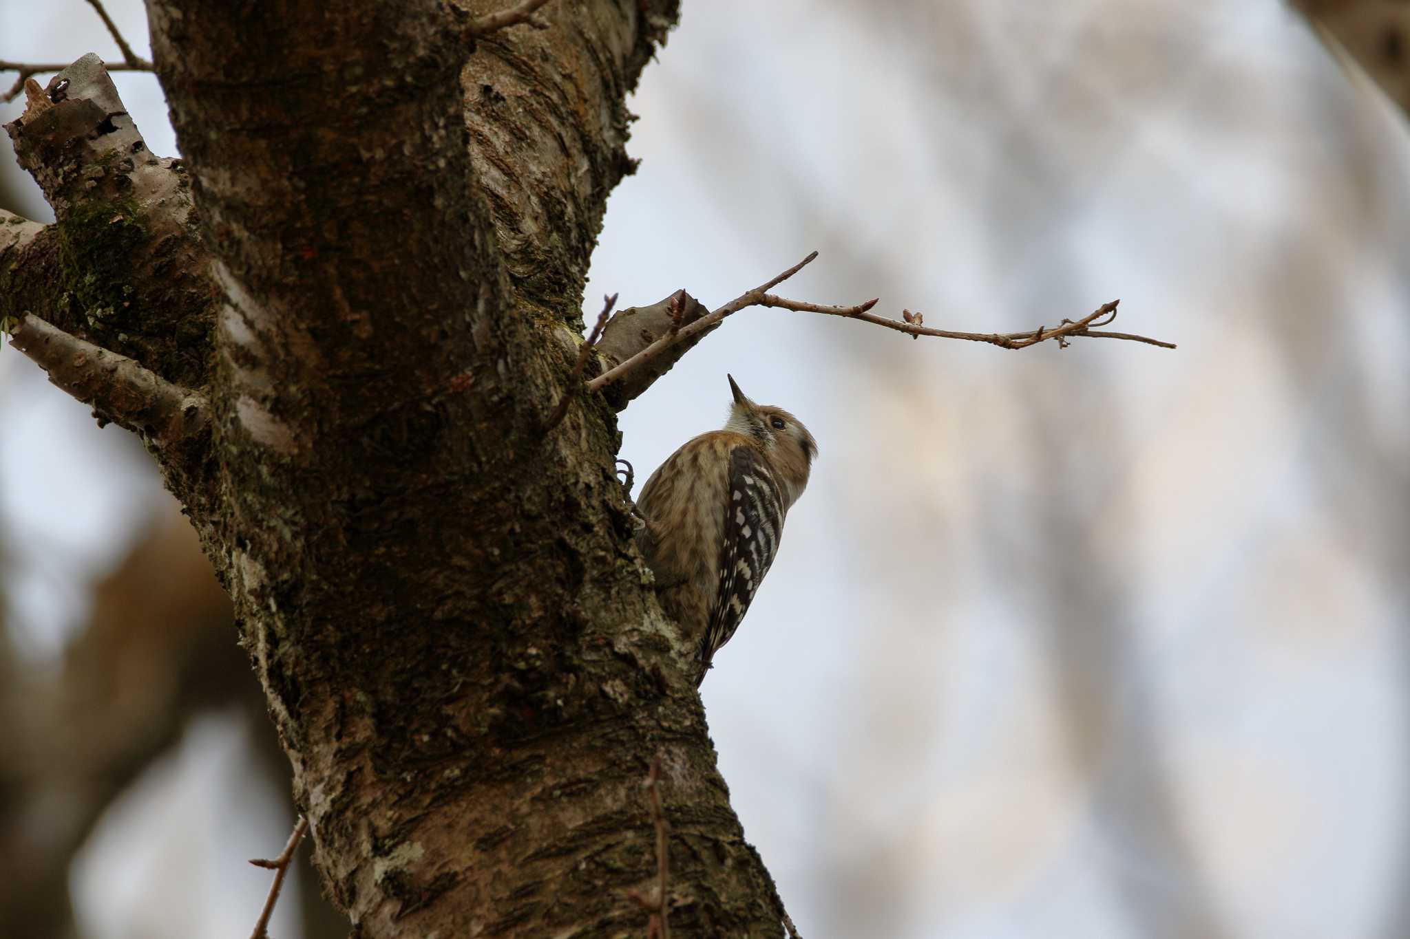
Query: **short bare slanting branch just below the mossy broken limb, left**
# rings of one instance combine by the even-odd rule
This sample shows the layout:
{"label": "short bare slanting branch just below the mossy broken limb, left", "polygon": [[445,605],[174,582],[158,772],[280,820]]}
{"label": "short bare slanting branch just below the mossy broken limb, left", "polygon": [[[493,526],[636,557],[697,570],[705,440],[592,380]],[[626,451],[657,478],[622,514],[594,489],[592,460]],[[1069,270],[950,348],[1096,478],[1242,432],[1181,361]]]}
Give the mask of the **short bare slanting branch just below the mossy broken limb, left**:
{"label": "short bare slanting branch just below the mossy broken limb, left", "polygon": [[21,315],[10,344],[48,372],[49,382],[92,405],[100,422],[113,421],[159,448],[192,438],[209,420],[200,394],[38,317]]}

